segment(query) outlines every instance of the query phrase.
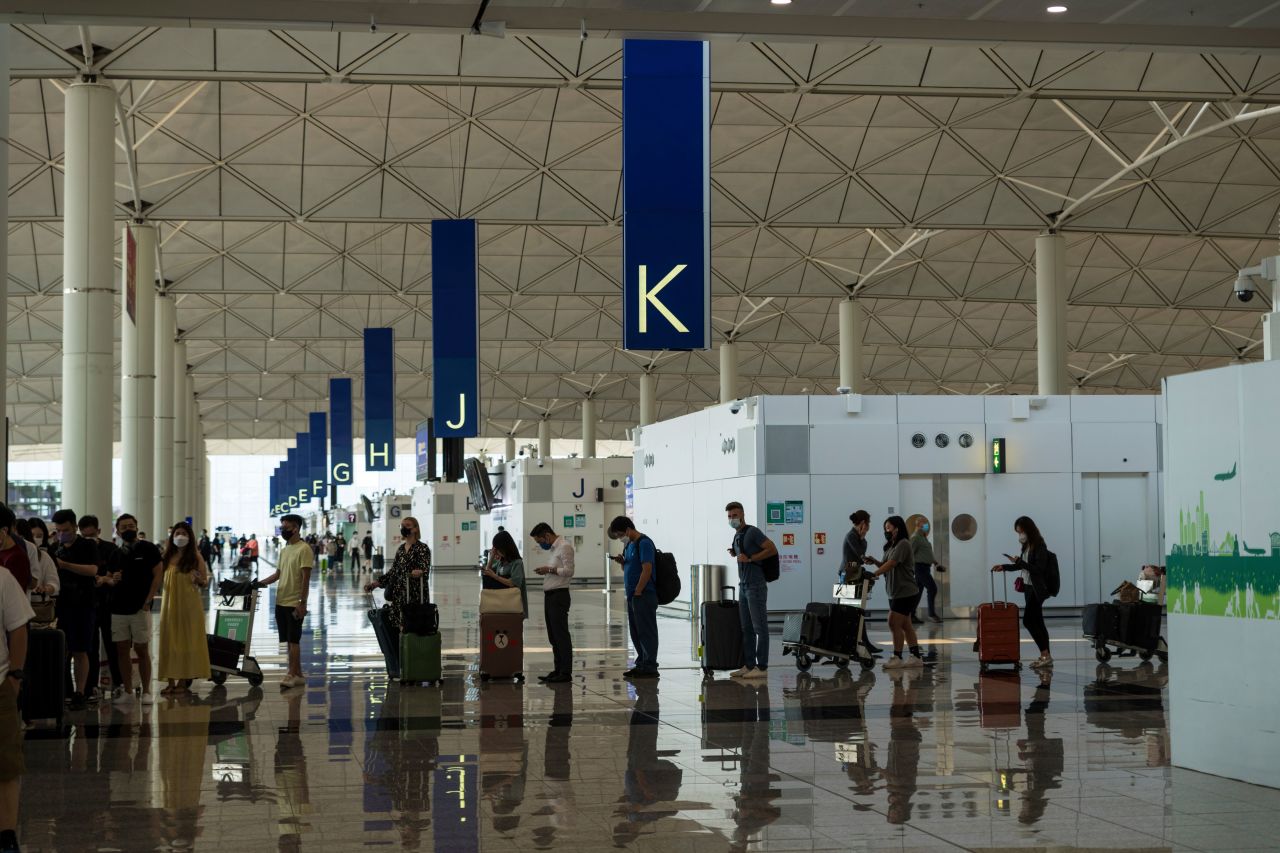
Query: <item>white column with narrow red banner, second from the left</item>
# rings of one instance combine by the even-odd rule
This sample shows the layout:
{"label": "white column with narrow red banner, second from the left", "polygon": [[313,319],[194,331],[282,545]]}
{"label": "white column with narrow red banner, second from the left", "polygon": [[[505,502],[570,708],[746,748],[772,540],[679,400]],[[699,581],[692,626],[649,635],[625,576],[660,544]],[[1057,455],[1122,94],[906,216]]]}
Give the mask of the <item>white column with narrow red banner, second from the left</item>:
{"label": "white column with narrow red banner, second from the left", "polygon": [[[134,241],[133,314],[129,314],[128,243]],[[142,530],[155,530],[156,407],[156,232],[151,225],[124,227],[120,264],[120,479],[122,508],[138,516]]]}

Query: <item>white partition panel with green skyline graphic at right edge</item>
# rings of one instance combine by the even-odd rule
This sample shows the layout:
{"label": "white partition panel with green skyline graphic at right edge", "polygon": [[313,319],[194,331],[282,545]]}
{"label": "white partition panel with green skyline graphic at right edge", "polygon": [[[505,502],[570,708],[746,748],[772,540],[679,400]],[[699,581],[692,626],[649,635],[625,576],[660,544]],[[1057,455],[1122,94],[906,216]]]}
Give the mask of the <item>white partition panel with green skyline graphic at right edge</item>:
{"label": "white partition panel with green skyline graphic at right edge", "polygon": [[1174,763],[1280,786],[1280,361],[1165,380]]}

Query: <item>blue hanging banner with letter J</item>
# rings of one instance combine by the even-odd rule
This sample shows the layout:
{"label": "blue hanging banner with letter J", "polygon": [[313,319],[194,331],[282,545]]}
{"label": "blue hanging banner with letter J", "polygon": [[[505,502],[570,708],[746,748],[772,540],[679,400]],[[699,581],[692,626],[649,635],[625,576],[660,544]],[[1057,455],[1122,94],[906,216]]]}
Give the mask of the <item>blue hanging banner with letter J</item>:
{"label": "blue hanging banner with letter J", "polygon": [[431,416],[442,438],[480,434],[476,220],[431,222]]}

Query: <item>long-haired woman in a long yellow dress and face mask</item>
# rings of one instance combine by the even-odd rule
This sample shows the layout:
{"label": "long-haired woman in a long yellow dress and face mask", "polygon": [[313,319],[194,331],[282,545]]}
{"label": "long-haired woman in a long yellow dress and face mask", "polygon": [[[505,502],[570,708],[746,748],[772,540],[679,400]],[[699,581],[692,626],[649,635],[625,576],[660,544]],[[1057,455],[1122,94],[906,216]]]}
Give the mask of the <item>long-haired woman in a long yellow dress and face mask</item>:
{"label": "long-haired woman in a long yellow dress and face mask", "polygon": [[[173,525],[164,556],[164,596],[160,605],[161,695],[187,693],[196,679],[209,678],[209,639],[200,590],[209,585],[209,566],[196,549],[191,525]],[[143,685],[146,689],[146,685]]]}

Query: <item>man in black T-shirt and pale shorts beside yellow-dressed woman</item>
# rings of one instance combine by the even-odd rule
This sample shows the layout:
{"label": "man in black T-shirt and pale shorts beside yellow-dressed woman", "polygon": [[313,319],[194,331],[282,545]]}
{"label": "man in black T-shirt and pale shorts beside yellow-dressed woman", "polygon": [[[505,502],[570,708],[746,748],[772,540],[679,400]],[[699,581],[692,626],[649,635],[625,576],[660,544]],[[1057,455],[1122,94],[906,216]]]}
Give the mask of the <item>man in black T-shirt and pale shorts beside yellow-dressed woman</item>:
{"label": "man in black T-shirt and pale shorts beside yellow-dressed woman", "polygon": [[[160,592],[164,560],[160,548],[138,539],[138,520],[128,512],[115,520],[115,533],[123,544],[111,566],[113,574],[119,576],[111,589],[111,642],[122,661],[137,653],[142,704],[151,704],[151,602]],[[207,561],[205,566],[207,569]],[[120,676],[124,689],[116,702],[128,704],[134,698],[133,666],[120,667]]]}

